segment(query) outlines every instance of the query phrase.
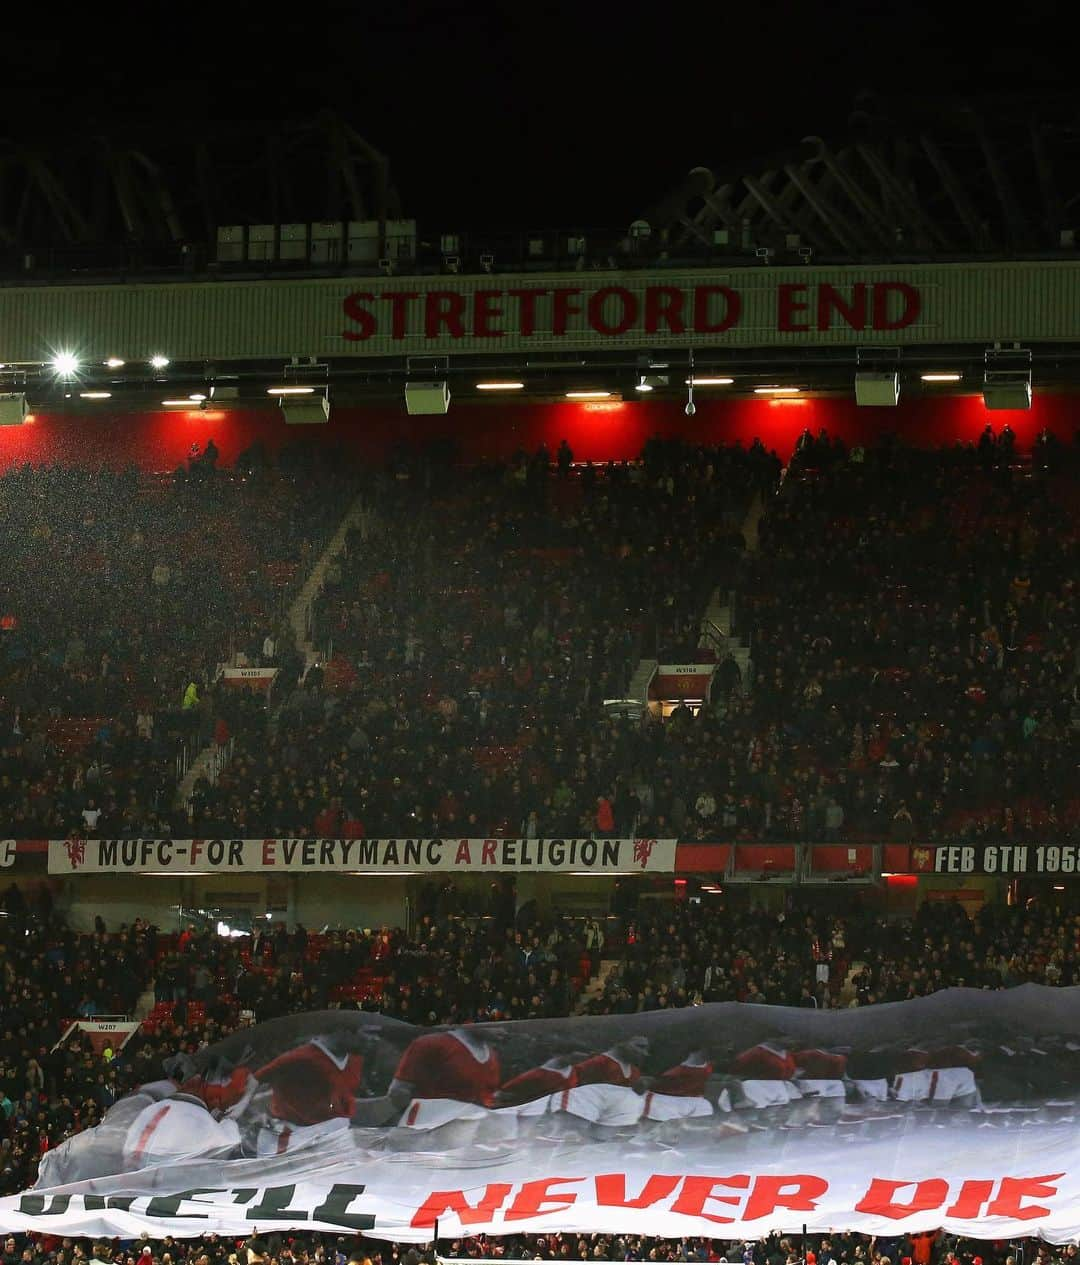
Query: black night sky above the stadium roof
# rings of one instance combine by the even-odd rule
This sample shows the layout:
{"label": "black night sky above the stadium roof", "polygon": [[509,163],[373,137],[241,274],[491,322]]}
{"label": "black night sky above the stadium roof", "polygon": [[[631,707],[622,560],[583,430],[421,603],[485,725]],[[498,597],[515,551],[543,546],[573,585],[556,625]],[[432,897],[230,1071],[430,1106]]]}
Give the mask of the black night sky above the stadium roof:
{"label": "black night sky above the stadium roof", "polygon": [[0,133],[331,105],[445,228],[625,226],[693,166],[841,135],[860,90],[1071,85],[1066,10],[1043,0],[1004,19],[950,0],[10,8]]}

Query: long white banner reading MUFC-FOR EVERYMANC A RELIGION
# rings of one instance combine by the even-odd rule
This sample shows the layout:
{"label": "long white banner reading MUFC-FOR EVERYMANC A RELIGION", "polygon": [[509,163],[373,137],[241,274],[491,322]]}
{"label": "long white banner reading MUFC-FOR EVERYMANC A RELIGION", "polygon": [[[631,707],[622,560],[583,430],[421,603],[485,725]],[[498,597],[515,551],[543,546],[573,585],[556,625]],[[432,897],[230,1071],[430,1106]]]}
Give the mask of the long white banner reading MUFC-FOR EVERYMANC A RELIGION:
{"label": "long white banner reading MUFC-FOR EVERYMANC A RELIGION", "polygon": [[51,839],[49,874],[670,874],[675,839]]}

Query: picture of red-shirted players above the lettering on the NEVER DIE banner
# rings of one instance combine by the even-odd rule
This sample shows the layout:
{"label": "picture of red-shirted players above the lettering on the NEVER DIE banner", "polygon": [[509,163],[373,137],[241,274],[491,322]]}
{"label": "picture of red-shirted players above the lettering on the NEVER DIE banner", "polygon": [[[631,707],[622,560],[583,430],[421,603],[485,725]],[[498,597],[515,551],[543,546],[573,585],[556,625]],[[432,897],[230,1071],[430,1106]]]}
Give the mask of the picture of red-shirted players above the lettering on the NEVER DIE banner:
{"label": "picture of red-shirted players above the lettering on the NEVER DIE banner", "polygon": [[1010,1127],[1018,1101],[1042,1111],[1080,1097],[1080,1034],[1042,1035],[1038,1013],[1028,1030],[1003,1032],[978,1013],[954,1018],[954,1008],[921,1031],[890,1028],[888,1008],[826,1018],[717,1006],[426,1031],[360,1012],[290,1016],[167,1060],[99,1128],[43,1156],[42,1185],[315,1144],[464,1161],[470,1149],[491,1159],[534,1140],[616,1135],[741,1146],[774,1128],[835,1125],[873,1140],[984,1097],[995,1127]]}

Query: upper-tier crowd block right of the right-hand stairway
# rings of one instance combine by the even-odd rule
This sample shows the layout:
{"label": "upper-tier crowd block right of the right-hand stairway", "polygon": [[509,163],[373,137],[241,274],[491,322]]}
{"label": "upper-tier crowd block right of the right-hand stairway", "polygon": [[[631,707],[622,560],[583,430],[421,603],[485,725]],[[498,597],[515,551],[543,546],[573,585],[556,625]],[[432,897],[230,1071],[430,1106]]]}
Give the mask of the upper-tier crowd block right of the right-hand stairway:
{"label": "upper-tier crowd block right of the right-hand stairway", "polygon": [[[1071,837],[1075,478],[997,445],[804,445],[741,593],[718,789],[766,836]],[[741,820],[740,820],[741,818]]]}

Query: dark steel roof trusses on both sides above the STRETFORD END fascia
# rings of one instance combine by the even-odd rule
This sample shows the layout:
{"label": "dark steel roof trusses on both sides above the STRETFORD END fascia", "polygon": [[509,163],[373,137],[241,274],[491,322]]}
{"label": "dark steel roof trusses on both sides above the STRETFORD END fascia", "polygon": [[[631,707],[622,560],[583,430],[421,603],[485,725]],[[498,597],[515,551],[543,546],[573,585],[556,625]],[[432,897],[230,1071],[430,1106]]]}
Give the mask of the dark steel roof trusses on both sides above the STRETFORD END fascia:
{"label": "dark steel roof trusses on both sides above the STRETFORD END fascia", "polygon": [[[481,237],[464,226],[454,271],[935,262],[1075,247],[1080,100],[860,97],[856,106],[844,135],[806,137],[752,164],[697,167],[617,228],[511,225]],[[440,269],[457,219],[451,191],[448,204],[444,223],[421,225],[410,258],[395,259],[400,271]],[[329,111],[181,134],[0,140],[9,276],[199,271],[218,262],[225,225],[384,225],[402,214],[387,157]],[[259,262],[274,271],[274,261]]]}

